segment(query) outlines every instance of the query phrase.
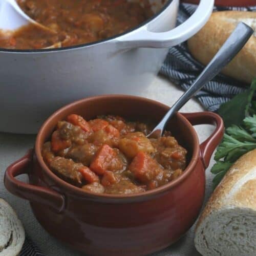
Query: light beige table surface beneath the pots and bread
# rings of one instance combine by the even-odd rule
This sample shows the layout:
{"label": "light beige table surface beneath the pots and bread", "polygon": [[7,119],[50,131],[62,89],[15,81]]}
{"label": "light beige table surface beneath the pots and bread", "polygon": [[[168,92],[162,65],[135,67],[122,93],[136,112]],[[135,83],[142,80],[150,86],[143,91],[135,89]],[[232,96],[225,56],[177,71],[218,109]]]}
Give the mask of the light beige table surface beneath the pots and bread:
{"label": "light beige table surface beneath the pots and bread", "polygon": [[[158,100],[167,105],[172,105],[183,93],[177,86],[162,76],[157,76],[150,86],[141,94],[141,96]],[[189,100],[183,106],[181,112],[203,111],[202,106],[195,100]],[[210,125],[198,125],[195,127],[198,132],[199,140],[202,142],[213,131],[214,127]],[[15,160],[22,157],[26,151],[31,148],[35,141],[35,135],[17,135],[0,133],[0,180],[3,181],[6,167]],[[211,159],[210,166],[206,170],[206,196],[205,201],[212,192],[212,175],[210,167],[214,161]],[[24,179],[24,177],[23,177]],[[6,190],[3,182],[0,183],[0,197],[9,202],[16,210],[19,219],[23,222],[27,235],[36,243],[42,253],[46,256],[76,256],[81,253],[63,245],[55,238],[51,237],[36,221],[32,214],[28,201],[17,198]],[[195,226],[195,225],[194,225]],[[200,255],[194,246],[194,226],[178,242],[166,249],[153,253],[154,256],[165,255]]]}

